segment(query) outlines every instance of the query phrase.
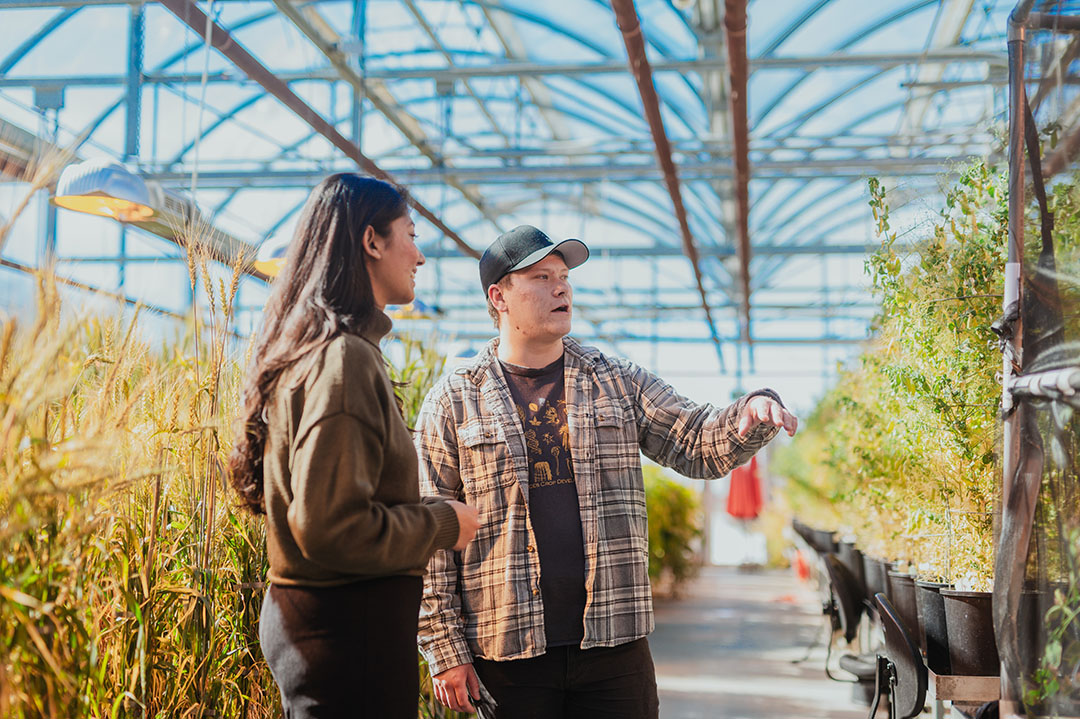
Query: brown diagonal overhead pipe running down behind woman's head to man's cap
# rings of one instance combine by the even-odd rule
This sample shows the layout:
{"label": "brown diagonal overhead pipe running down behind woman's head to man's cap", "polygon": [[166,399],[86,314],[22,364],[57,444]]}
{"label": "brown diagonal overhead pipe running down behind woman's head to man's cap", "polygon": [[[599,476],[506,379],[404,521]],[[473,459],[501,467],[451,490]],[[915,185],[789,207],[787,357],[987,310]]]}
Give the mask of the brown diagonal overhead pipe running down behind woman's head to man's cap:
{"label": "brown diagonal overhead pipe running down behind woman's head to man's cap", "polygon": [[[301,120],[311,126],[316,133],[325,137],[334,147],[338,148],[350,160],[355,162],[361,169],[367,174],[378,177],[388,182],[394,182],[394,178],[375,162],[360,151],[360,148],[350,143],[337,131],[337,128],[316,112],[311,106],[305,103],[299,95],[294,93],[287,84],[273,72],[267,69],[261,63],[253,57],[240,43],[233,40],[232,36],[217,23],[210,21],[191,0],[162,0],[170,12],[176,15],[185,25],[190,27],[199,37],[204,37],[207,26],[211,28],[210,41],[222,55],[229,58],[233,65],[240,68],[248,78],[262,85],[262,87],[276,97],[285,107],[291,109]],[[480,259],[480,253],[469,246],[464,240],[448,228],[443,221],[428,209],[420,201],[413,198],[413,208],[424,219],[435,226],[443,234],[453,240],[465,255]]]}

